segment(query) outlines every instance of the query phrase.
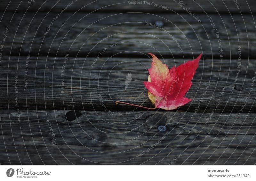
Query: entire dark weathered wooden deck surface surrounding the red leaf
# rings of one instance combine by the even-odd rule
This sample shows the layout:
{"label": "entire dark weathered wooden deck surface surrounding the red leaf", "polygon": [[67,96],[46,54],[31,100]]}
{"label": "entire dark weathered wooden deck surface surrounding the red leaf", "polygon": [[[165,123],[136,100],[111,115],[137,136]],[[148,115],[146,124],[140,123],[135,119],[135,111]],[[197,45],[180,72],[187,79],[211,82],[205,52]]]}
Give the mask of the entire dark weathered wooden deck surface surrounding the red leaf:
{"label": "entire dark weathered wooden deck surface surrounding the red leaf", "polygon": [[[253,0],[71,2],[0,1],[1,165],[256,164]],[[153,106],[149,52],[169,67],[203,54],[191,102],[115,104]]]}

